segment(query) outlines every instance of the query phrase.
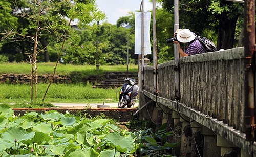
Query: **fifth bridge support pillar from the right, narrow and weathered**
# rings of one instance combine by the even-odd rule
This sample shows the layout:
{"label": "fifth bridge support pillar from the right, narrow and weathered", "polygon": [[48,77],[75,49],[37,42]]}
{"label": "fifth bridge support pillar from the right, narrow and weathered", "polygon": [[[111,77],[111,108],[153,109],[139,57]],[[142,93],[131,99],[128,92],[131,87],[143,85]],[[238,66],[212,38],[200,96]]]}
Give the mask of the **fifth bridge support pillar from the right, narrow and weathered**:
{"label": "fifth bridge support pillar from the right, narrow and weathered", "polygon": [[[172,130],[174,132],[174,136],[172,140],[170,140],[170,143],[176,143],[181,141],[181,132],[182,132],[182,122],[180,121],[180,115],[176,111],[172,111],[172,120],[173,120]],[[181,156],[180,149],[181,149],[181,145],[173,149],[172,155]]]}

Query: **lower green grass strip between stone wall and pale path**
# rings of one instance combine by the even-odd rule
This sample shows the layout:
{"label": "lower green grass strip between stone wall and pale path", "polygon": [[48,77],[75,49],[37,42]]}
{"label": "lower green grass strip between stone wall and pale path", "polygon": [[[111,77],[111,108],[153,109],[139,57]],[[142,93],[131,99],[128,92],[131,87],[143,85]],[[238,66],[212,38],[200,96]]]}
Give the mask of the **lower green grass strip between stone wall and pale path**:
{"label": "lower green grass strip between stone wall and pale path", "polygon": [[[48,84],[38,84],[37,102],[41,102]],[[46,103],[108,103],[117,102],[119,89],[93,88],[90,84],[52,84]],[[34,99],[34,98],[33,98]],[[30,103],[30,85],[0,84],[1,103]]]}

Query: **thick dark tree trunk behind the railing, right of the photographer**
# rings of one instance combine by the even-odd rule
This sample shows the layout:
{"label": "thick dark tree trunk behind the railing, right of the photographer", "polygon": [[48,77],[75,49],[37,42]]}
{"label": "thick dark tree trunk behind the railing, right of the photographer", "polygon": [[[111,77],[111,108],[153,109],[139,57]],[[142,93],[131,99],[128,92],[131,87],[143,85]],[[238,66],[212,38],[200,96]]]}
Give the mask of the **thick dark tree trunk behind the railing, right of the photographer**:
{"label": "thick dark tree trunk behind the railing, right of the photographer", "polygon": [[217,50],[233,48],[234,32],[236,30],[237,20],[237,16],[232,19],[228,19],[225,13],[220,15]]}

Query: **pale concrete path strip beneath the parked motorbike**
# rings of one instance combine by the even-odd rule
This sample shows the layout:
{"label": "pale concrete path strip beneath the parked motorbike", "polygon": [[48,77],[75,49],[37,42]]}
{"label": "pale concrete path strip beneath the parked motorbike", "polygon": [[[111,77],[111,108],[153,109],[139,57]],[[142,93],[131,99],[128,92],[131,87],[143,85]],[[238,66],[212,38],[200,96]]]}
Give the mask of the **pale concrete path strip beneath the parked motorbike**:
{"label": "pale concrete path strip beneath the parked motorbike", "polygon": [[[118,103],[52,103],[60,108],[118,108]],[[139,103],[136,102],[131,108],[138,107]],[[127,108],[127,106],[125,106]]]}

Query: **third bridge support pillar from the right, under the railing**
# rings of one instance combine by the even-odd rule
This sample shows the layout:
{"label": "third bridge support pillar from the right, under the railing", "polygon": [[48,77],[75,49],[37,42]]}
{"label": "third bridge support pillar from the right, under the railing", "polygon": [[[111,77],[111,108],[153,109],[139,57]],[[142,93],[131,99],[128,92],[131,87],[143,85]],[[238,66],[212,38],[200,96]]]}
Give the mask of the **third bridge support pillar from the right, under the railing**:
{"label": "third bridge support pillar from the right, under the railing", "polygon": [[[193,121],[193,119],[190,119]],[[193,141],[191,143],[191,156],[203,156],[204,150],[204,136],[201,134],[201,124],[196,121],[190,123],[193,135]]]}

